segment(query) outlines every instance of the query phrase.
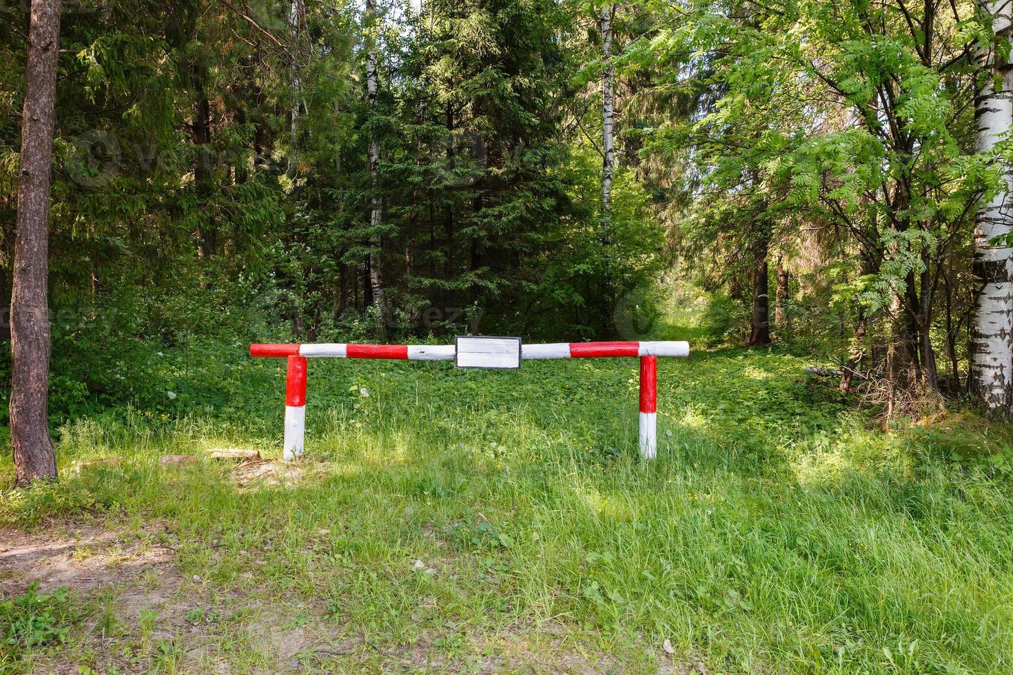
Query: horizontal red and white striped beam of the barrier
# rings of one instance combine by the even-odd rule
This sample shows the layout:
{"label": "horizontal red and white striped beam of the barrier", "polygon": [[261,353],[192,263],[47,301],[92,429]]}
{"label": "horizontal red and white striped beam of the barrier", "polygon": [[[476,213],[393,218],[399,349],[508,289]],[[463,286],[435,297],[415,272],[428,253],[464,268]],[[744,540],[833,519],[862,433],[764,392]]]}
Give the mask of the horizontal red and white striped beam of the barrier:
{"label": "horizontal red and white striped beam of the barrier", "polygon": [[[387,358],[408,361],[453,360],[452,344],[251,344],[250,356],[324,356],[332,358]],[[614,356],[689,356],[690,344],[664,342],[555,342],[522,344],[521,358],[603,358]]]}

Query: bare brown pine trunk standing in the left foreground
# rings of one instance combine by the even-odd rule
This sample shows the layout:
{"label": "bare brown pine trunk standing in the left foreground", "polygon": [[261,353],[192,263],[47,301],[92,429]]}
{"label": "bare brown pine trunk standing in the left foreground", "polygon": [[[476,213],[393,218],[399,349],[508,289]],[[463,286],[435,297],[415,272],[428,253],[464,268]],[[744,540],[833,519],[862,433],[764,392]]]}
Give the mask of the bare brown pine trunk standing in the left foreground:
{"label": "bare brown pine trunk standing in the left foreground", "polygon": [[14,484],[56,479],[49,428],[49,217],[60,0],[32,0],[24,72],[11,293],[10,439]]}

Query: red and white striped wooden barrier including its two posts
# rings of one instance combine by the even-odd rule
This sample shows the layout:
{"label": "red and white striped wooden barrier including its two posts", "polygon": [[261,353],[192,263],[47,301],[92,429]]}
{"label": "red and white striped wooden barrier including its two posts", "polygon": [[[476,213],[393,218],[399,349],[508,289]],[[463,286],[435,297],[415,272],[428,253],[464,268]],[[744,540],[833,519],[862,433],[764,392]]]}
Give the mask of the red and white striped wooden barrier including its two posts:
{"label": "red and white striped wooden barrier including its two posts", "polygon": [[[640,454],[653,459],[657,454],[657,357],[689,356],[688,342],[557,342],[550,344],[521,344],[516,338],[459,338],[459,340],[487,340],[496,343],[492,351],[504,360],[503,350],[510,349],[509,340],[516,340],[513,359],[534,358],[605,358],[615,356],[640,357]],[[518,354],[520,349],[520,354]],[[489,353],[491,354],[492,351]],[[469,352],[472,354],[472,352]],[[453,344],[350,344],[344,342],[317,344],[252,344],[250,356],[288,357],[285,397],[285,446],[286,459],[303,453],[306,429],[306,359],[308,357],[332,358],[385,358],[408,361],[442,361],[457,359],[458,347]],[[520,356],[520,358],[519,358]],[[505,360],[510,360],[509,358]],[[469,361],[470,363],[471,361]],[[487,367],[516,367],[508,365]],[[483,367],[464,366],[462,367]]]}

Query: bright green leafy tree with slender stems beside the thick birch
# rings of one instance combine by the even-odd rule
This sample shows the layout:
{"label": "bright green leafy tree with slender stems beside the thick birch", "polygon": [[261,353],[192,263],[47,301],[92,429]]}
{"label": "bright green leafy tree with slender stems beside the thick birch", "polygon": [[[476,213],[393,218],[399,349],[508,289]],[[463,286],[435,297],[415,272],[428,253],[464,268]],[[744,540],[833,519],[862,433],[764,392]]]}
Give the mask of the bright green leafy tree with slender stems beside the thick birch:
{"label": "bright green leafy tree with slender stems beside the thick birch", "polygon": [[[877,384],[877,396],[904,390],[897,411],[933,405],[935,291],[982,188],[999,191],[991,158],[967,153],[973,45],[991,27],[977,30],[979,14],[958,3],[701,0],[697,7],[690,18],[674,12],[682,27],[667,29],[671,40],[652,40],[665,60],[673,44],[700,55],[674,73],[674,83],[699,70],[716,97],[675,132],[663,126],[654,135],[656,148],[685,149],[700,176],[694,210],[704,227],[689,237],[745,257],[751,238],[715,220],[728,215],[721,200],[763,200],[756,207],[782,224],[772,240],[778,244],[822,233],[843,263],[820,261],[823,272],[839,274],[839,291],[863,306],[861,319],[852,318],[867,336],[866,367],[889,385]],[[752,171],[764,189],[751,193]],[[792,233],[792,223],[802,228]],[[748,220],[737,225],[751,228]]]}

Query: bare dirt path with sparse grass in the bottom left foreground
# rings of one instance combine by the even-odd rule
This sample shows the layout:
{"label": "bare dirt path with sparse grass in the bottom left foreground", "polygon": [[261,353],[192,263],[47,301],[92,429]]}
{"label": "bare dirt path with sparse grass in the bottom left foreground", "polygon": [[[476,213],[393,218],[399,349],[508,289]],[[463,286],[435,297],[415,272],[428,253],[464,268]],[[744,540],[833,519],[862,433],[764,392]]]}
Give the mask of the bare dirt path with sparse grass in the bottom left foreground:
{"label": "bare dirt path with sparse grass in the bottom left foreground", "polygon": [[[462,669],[434,641],[379,645],[325,607],[294,606],[263,588],[216,588],[176,564],[169,523],[53,524],[0,529],[0,597],[71,590],[78,611],[66,645],[28,652],[32,673],[621,672],[609,659],[556,655],[545,663],[516,636],[517,655]],[[521,634],[527,629],[520,630]],[[512,650],[513,651],[513,650]],[[672,672],[672,671],[668,671]]]}

